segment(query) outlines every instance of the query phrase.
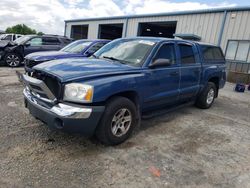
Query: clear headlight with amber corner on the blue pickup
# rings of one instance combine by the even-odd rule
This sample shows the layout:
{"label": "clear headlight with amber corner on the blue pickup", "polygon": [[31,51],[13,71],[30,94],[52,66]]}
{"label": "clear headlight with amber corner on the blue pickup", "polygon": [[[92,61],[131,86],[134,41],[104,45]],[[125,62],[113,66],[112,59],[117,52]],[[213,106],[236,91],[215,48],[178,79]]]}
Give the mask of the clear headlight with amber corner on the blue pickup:
{"label": "clear headlight with amber corner on the blue pickup", "polygon": [[64,89],[65,101],[92,102],[94,87],[87,84],[71,83],[66,84]]}

